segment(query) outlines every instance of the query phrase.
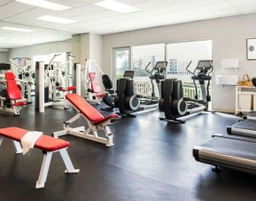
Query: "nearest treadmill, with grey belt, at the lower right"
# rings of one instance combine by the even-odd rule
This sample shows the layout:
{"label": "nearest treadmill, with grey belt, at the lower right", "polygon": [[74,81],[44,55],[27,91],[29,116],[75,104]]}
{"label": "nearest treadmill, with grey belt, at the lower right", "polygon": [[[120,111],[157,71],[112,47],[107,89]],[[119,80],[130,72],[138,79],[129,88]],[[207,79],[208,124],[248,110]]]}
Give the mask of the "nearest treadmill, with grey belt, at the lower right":
{"label": "nearest treadmill, with grey belt, at the lower right", "polygon": [[[240,135],[213,135],[213,139],[193,149],[202,163],[256,174],[256,138]],[[214,169],[213,169],[214,170]]]}

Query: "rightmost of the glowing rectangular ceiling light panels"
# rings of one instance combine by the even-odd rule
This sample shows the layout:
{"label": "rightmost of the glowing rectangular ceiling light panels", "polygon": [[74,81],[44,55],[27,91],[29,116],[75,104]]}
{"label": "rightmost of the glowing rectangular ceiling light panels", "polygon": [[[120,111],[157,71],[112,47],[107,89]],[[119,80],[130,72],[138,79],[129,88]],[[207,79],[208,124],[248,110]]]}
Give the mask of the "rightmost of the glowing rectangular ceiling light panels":
{"label": "rightmost of the glowing rectangular ceiling light panels", "polygon": [[138,12],[140,11],[139,8],[133,7],[128,4],[123,4],[114,0],[105,0],[102,2],[98,2],[95,5],[104,7],[106,9],[115,11],[115,12],[121,12],[121,13],[130,13],[130,12]]}

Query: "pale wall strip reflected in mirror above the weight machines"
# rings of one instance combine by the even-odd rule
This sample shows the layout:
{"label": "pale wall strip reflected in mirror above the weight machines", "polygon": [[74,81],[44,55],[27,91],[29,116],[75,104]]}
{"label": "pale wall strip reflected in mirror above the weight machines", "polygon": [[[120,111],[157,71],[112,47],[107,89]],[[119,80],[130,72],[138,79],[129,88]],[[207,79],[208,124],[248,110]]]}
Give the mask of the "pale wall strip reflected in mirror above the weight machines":
{"label": "pale wall strip reflected in mirror above the weight machines", "polygon": [[72,51],[71,41],[35,44],[27,47],[14,48],[10,51],[10,58],[32,58],[35,55],[50,54],[56,52]]}

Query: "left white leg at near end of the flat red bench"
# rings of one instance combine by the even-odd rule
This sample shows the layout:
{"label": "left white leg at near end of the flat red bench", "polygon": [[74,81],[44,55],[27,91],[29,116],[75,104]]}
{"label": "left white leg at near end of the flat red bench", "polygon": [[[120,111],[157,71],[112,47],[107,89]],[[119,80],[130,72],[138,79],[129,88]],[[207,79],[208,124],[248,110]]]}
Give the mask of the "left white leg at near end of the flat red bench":
{"label": "left white leg at near end of the flat red bench", "polygon": [[35,189],[44,188],[44,183],[46,182],[49,167],[50,167],[51,157],[52,157],[52,152],[46,152],[46,154],[43,155],[43,164],[41,166],[40,174],[36,182]]}

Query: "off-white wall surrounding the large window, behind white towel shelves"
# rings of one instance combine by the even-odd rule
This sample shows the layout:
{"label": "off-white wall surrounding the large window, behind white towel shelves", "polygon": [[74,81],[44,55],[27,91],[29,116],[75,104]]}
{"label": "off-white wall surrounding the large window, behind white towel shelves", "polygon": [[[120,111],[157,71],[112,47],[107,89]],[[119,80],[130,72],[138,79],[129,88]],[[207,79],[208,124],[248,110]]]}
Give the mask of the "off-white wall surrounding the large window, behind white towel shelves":
{"label": "off-white wall surrounding the large window, behind white towel shelves", "polygon": [[[256,38],[256,14],[154,27],[103,36],[105,73],[112,74],[112,48],[153,43],[213,40],[213,109],[235,112],[235,87],[215,85],[216,74],[256,76],[256,61],[246,59],[246,39]],[[221,58],[238,58],[241,68],[222,72]]]}

